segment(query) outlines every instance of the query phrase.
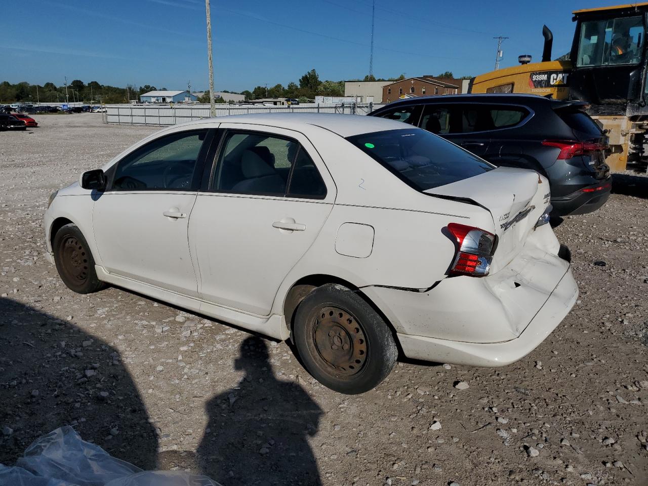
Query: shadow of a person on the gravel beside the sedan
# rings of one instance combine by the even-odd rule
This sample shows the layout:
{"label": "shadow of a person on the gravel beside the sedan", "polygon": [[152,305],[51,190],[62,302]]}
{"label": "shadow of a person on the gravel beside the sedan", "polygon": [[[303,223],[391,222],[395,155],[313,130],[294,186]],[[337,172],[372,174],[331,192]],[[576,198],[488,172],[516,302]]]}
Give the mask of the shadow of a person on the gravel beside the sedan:
{"label": "shadow of a person on the gravel beside the sedan", "polygon": [[246,372],[238,386],[207,403],[202,474],[227,486],[321,485],[308,444],[323,413],[318,404],[299,384],[273,376],[261,338],[242,342],[235,367]]}

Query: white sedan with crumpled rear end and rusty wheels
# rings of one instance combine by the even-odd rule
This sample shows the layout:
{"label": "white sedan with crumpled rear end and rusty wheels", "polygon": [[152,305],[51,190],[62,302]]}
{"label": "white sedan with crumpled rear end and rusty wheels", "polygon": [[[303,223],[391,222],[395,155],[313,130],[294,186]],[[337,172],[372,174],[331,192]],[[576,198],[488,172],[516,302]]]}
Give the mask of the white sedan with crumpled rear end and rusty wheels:
{"label": "white sedan with crumpled rear end and rusty wheels", "polygon": [[341,393],[410,358],[501,366],[572,308],[546,178],[377,117],[236,115],[161,130],[52,194],[47,255],[279,340]]}

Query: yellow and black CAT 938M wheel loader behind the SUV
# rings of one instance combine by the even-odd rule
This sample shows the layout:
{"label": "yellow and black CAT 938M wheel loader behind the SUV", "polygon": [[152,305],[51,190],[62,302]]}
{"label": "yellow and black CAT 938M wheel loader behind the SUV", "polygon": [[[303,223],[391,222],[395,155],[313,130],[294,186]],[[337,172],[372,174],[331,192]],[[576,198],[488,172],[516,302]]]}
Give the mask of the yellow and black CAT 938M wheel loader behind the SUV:
{"label": "yellow and black CAT 938M wheel loader behind the SUV", "polygon": [[553,36],[542,29],[542,62],[520,56],[520,65],[470,80],[469,93],[533,93],[584,101],[609,137],[612,170],[646,172],[648,162],[648,3],[573,12],[572,50],[551,61]]}

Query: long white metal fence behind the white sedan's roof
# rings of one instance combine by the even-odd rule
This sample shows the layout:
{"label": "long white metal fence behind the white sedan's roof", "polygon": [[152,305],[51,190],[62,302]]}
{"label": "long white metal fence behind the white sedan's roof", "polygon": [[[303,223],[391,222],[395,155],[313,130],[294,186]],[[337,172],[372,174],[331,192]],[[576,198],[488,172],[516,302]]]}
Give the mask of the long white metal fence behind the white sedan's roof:
{"label": "long white metal fence behind the white sedan's roof", "polygon": [[[299,104],[293,106],[259,106],[217,104],[216,116],[242,115],[244,113],[347,113],[367,115],[384,104]],[[106,105],[104,122],[121,125],[175,125],[209,118],[208,104],[192,105]]]}

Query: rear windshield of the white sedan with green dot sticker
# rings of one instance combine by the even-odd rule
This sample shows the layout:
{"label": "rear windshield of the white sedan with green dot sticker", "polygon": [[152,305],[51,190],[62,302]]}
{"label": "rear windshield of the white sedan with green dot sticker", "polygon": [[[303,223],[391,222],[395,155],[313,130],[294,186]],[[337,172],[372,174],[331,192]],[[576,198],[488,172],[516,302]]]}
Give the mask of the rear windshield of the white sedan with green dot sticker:
{"label": "rear windshield of the white sedan with green dot sticker", "polygon": [[418,191],[468,179],[494,168],[463,148],[420,128],[363,133],[347,140]]}

